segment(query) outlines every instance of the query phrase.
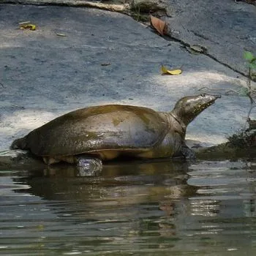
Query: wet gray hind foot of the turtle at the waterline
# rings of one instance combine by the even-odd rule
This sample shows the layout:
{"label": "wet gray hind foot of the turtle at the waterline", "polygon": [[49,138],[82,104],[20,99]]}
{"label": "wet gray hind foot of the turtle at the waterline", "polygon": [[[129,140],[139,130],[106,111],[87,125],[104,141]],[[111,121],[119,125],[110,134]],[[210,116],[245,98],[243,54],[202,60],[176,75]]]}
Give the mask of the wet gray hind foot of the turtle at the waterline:
{"label": "wet gray hind foot of the turtle at the waterline", "polygon": [[102,160],[97,157],[76,157],[78,176],[97,176],[102,172]]}

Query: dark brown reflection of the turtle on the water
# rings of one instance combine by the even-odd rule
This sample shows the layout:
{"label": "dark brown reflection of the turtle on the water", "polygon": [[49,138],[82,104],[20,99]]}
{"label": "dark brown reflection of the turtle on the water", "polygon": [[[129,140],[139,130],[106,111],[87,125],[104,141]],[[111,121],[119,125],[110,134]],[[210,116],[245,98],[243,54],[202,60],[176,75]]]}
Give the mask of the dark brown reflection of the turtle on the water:
{"label": "dark brown reflection of the turtle on the water", "polygon": [[105,165],[102,176],[79,177],[75,167],[63,165],[30,173],[16,181],[28,184],[31,194],[48,200],[83,200],[94,204],[104,199],[110,205],[113,200],[135,204],[154,197],[157,200],[186,194],[186,170],[185,162],[136,162]]}

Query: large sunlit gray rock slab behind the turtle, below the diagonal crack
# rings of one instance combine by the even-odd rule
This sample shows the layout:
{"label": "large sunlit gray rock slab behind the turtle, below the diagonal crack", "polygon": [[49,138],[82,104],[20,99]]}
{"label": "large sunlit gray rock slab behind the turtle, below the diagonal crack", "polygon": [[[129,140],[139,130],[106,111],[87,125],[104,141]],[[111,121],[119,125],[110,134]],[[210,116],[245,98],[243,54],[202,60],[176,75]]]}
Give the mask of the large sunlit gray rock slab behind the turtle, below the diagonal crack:
{"label": "large sunlit gray rock slab behind the turtle, below the diagonal crack", "polygon": [[[249,7],[244,17],[251,13]],[[203,86],[213,90],[204,90],[208,93],[246,86],[246,78],[233,69],[209,56],[188,53],[181,43],[159,37],[127,15],[0,4],[0,17],[0,151],[31,129],[77,108],[118,103],[167,111],[179,98],[199,94]],[[36,24],[37,30],[20,30],[18,23],[26,20]],[[173,24],[179,24],[178,20]],[[220,34],[221,39],[230,31],[230,26],[222,25],[222,31],[209,29],[211,38]],[[243,45],[249,39],[239,42]],[[228,43],[233,38],[230,42],[224,38],[221,45]],[[242,55],[243,48],[236,48],[234,57]],[[181,67],[183,73],[161,75],[161,64]],[[248,109],[246,97],[223,95],[189,125],[187,138],[222,143],[244,125]]]}

